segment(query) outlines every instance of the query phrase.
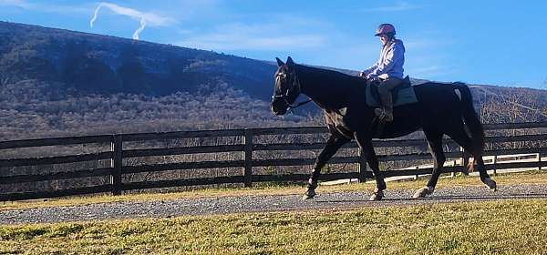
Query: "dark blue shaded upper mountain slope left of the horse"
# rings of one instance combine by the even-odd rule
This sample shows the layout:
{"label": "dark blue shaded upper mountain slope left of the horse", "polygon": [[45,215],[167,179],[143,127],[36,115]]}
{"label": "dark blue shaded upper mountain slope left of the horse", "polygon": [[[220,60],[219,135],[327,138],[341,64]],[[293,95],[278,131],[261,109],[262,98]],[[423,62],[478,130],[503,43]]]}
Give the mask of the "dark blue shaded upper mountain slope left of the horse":
{"label": "dark blue shaded upper mountain slope left of the horse", "polygon": [[5,22],[0,56],[3,85],[36,79],[74,95],[164,96],[227,83],[265,99],[275,70],[271,63],[211,51]]}

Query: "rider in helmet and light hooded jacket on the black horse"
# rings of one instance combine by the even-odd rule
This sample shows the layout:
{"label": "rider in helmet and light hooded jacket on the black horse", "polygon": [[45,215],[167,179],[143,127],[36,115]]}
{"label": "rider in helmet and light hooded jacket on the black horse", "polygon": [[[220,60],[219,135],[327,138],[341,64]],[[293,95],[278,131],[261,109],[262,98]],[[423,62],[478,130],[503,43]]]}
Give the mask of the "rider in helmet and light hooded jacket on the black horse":
{"label": "rider in helmet and light hooded jacket on the black horse", "polygon": [[375,36],[379,36],[382,41],[380,58],[374,66],[366,68],[359,76],[380,80],[378,93],[383,107],[374,109],[374,112],[382,121],[393,121],[391,90],[403,80],[405,46],[403,41],[395,38],[395,27],[391,24],[378,26]]}

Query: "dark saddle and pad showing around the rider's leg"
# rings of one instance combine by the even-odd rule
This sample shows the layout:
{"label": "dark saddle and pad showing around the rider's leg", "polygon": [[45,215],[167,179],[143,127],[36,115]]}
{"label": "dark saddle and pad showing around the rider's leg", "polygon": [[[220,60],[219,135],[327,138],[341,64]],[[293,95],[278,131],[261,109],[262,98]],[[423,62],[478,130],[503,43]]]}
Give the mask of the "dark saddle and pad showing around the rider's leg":
{"label": "dark saddle and pad showing around the rider's leg", "polygon": [[[369,107],[381,107],[380,95],[378,93],[378,86],[380,82],[375,80],[368,84],[366,87],[366,105]],[[402,106],[413,103],[418,103],[416,93],[414,93],[414,87],[410,83],[410,78],[406,76],[401,84],[391,90],[391,96],[393,97],[393,106]]]}

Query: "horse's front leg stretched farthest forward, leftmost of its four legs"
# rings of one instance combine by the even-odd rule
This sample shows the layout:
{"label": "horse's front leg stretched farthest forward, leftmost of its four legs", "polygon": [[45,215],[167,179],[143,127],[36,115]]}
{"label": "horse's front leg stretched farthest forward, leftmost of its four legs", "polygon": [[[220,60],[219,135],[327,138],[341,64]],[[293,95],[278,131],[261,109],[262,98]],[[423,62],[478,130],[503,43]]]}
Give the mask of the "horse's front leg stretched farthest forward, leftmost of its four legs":
{"label": "horse's front leg stretched farthest forward, leftmost of its four legs", "polygon": [[304,200],[313,199],[315,197],[315,188],[317,188],[317,179],[319,179],[319,175],[321,174],[321,168],[325,167],[326,161],[328,161],[329,158],[332,158],[336,151],[349,140],[350,139],[348,138],[337,137],[331,134],[330,138],[326,141],[325,148],[323,148],[323,151],[321,151],[317,159],[315,159],[314,170],[312,171],[312,176],[308,180],[307,190],[305,191],[303,198]]}

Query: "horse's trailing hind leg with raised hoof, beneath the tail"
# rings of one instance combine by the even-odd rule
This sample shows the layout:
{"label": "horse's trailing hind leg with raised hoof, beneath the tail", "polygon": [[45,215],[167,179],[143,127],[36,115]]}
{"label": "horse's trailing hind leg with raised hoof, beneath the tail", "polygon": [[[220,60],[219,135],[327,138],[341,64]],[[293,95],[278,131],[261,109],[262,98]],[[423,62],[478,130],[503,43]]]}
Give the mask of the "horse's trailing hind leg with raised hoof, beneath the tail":
{"label": "horse's trailing hind leg with raised hoof, beneath the tail", "polygon": [[[491,190],[496,190],[496,182],[490,178],[490,175],[486,172],[486,167],[484,166],[484,160],[482,159],[482,147],[474,147],[473,141],[465,133],[463,127],[457,131],[450,132],[448,134],[450,138],[454,139],[462,148],[469,151],[471,156],[473,156],[477,167],[479,168],[480,180]],[[473,168],[473,166],[470,166]]]}

